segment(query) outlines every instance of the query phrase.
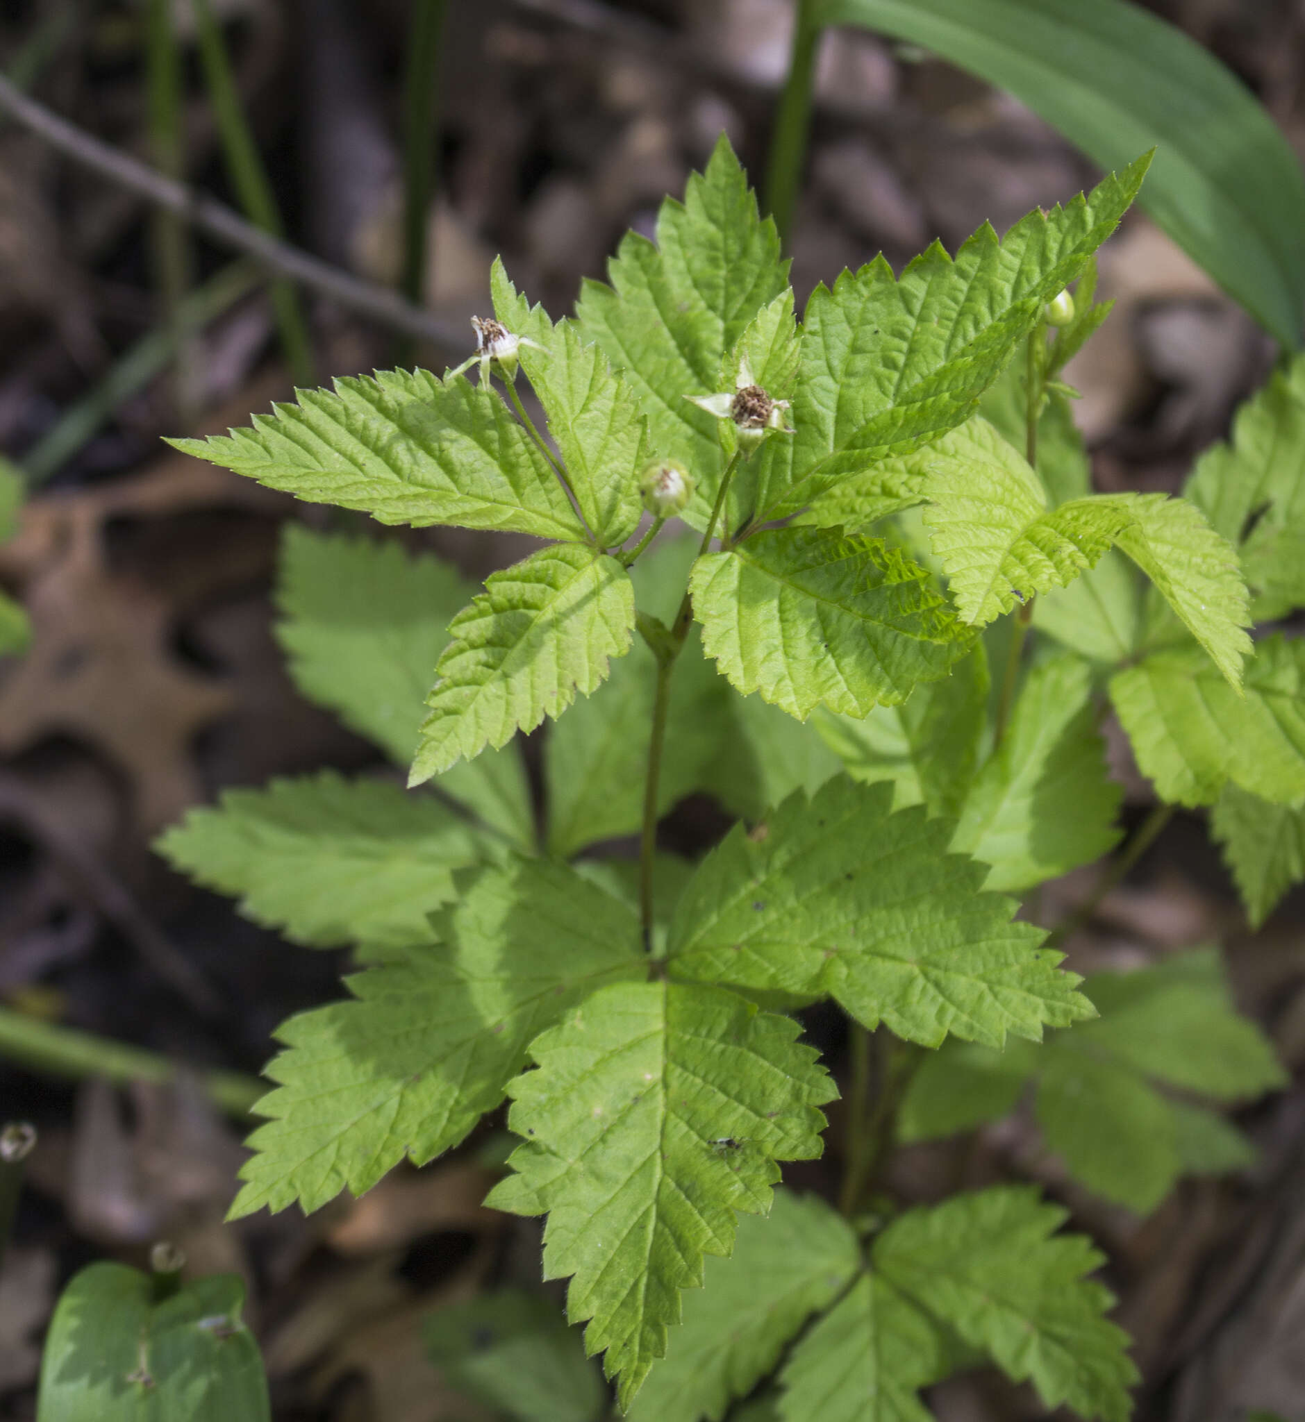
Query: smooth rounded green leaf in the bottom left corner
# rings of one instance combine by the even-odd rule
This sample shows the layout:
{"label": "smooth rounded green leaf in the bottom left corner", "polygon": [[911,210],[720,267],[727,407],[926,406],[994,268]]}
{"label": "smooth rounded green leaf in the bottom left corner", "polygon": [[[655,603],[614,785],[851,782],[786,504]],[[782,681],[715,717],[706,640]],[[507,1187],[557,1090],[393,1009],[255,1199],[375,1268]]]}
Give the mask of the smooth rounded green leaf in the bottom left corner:
{"label": "smooth rounded green leaf in the bottom left corner", "polygon": [[155,1281],[91,1264],[63,1291],[41,1365],[37,1422],[268,1422],[268,1382],[239,1274],[155,1301]]}

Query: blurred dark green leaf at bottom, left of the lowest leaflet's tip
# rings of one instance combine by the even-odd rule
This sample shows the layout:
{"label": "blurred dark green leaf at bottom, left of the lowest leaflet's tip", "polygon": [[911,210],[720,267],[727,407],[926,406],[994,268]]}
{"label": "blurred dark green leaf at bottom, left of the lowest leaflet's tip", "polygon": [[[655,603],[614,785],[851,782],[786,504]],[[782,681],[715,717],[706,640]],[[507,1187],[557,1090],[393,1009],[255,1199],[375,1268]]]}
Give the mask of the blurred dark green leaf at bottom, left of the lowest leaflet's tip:
{"label": "blurred dark green leaf at bottom, left of the lowest leaflet's tip", "polygon": [[599,1422],[608,1394],[581,1334],[535,1294],[504,1288],[426,1318],[426,1355],[463,1394],[521,1422]]}

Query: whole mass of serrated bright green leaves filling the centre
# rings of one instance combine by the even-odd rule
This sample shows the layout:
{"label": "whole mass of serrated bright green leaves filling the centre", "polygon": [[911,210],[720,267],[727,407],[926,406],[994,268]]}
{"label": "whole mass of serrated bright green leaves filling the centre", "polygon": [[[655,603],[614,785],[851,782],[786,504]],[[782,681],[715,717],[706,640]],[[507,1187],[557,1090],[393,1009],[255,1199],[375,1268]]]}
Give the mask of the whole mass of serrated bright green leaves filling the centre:
{"label": "whole mass of serrated bright green leaves filling the centre", "polygon": [[[1060,371],[1101,319],[1093,253],[1147,162],[1002,240],[985,226],[899,277],[882,259],[844,273],[798,323],[774,228],[722,141],[656,240],[628,236],[609,283],[586,283],[574,320],[531,307],[500,263],[477,353],[443,380],[339,381],[249,429],[176,441],[381,522],[552,540],[470,596],[430,559],[287,535],[296,683],[397,764],[411,752],[410,784],[440,795],[278,782],[161,842],[258,921],[353,943],[361,966],[349,998],[282,1027],[235,1213],[361,1192],[509,1101],[521,1143],[490,1203],[548,1216],[545,1277],[571,1280],[569,1318],[636,1416],[720,1418],[781,1358],[793,1422],[925,1418],[919,1389],[985,1358],[1047,1406],[1129,1415],[1127,1340],[1087,1277],[1100,1257],[1057,1233],[1063,1212],[1036,1190],[885,1227],[861,1197],[844,1217],[776,1185],[780,1162],[823,1150],[837,1091],[787,1014],[825,997],[855,1030],[941,1048],[905,1096],[904,1139],[1002,1115],[1036,1078],[1070,1170],[1106,1193],[1121,1180],[1137,1209],[1248,1149],[1170,1086],[1227,1101],[1279,1079],[1212,958],[1154,991],[1137,975],[1134,997],[1084,994],[995,892],[1117,838],[1106,695],[1164,798],[1220,806],[1257,916],[1305,875],[1299,853],[1254,867],[1257,799],[1299,843],[1305,701],[1298,644],[1257,654],[1247,636],[1240,562],[1255,610],[1292,606],[1305,456],[1271,476],[1249,466],[1265,427],[1301,418],[1301,367],[1203,461],[1190,501],[1092,495],[1067,415]],[[1242,478],[1264,486],[1274,538],[1244,538],[1220,503]],[[659,533],[675,518],[692,535]],[[1090,606],[1057,613],[1084,589]],[[1008,613],[1015,653],[990,677],[985,627]],[[1032,650],[1030,623],[1047,638]],[[1174,667],[1208,683],[1218,724]],[[558,718],[539,826],[514,738]],[[652,833],[690,791],[753,819],[696,866]],[[640,829],[639,873],[576,857]],[[1235,1084],[1141,1061],[1129,1024],[1144,988],[1224,1034]],[[1093,1034],[1127,1079],[1129,1129],[1164,1122],[1164,1150],[1127,1179],[1093,1122],[1057,1105],[1077,1071],[1110,1109],[1076,1058]],[[786,1270],[776,1250],[814,1264]],[[774,1307],[749,1311],[750,1297]]]}

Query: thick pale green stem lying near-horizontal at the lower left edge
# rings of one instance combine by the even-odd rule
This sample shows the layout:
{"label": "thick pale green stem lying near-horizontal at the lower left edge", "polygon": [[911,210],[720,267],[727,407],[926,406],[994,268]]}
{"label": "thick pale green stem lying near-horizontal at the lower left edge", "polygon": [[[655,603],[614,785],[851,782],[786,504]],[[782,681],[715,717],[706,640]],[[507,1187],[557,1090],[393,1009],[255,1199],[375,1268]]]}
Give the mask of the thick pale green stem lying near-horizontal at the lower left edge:
{"label": "thick pale green stem lying near-horizontal at the lower left edge", "polygon": [[[31,1071],[73,1081],[107,1076],[118,1084],[168,1082],[176,1075],[176,1065],[157,1052],[81,1032],[74,1027],[56,1027],[26,1012],[16,1012],[11,1007],[0,1007],[0,1057]],[[201,1072],[199,1079],[213,1103],[232,1116],[249,1115],[253,1103],[266,1092],[262,1082],[242,1072]]]}

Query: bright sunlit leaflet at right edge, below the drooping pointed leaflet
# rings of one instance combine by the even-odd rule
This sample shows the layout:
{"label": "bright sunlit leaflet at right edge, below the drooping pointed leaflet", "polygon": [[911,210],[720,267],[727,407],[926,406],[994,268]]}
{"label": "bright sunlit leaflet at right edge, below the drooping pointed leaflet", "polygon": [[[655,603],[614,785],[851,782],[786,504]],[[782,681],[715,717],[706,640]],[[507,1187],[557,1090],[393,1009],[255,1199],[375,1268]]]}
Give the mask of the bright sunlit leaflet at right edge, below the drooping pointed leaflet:
{"label": "bright sunlit leaflet at right edge, below the drooping pointed leaflet", "polygon": [[1244,697],[1188,646],[1117,673],[1110,698],[1161,799],[1212,805],[1228,781],[1275,805],[1305,799],[1305,641],[1257,643]]}

